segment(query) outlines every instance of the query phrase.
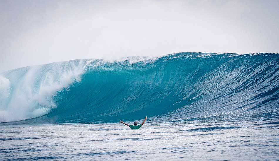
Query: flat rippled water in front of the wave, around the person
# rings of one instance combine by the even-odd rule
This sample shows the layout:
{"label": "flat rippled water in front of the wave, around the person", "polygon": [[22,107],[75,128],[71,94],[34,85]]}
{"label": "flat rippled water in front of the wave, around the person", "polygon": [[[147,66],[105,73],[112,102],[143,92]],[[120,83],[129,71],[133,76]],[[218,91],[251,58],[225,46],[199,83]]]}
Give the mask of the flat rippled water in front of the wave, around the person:
{"label": "flat rippled water in front of the wave, around the person", "polygon": [[[142,121],[142,120],[140,120]],[[128,122],[129,123],[129,122]],[[278,160],[278,118],[1,126],[1,160]]]}

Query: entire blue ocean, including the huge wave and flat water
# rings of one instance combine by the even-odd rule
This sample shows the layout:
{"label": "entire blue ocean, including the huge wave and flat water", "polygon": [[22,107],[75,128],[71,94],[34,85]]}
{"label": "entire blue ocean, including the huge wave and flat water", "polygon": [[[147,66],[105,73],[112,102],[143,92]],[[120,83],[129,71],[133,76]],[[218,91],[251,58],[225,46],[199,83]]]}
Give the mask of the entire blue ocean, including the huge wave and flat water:
{"label": "entire blue ocean, including the huge wave and flat water", "polygon": [[[146,123],[130,130],[119,123]],[[0,73],[0,160],[279,160],[279,54],[81,59]]]}

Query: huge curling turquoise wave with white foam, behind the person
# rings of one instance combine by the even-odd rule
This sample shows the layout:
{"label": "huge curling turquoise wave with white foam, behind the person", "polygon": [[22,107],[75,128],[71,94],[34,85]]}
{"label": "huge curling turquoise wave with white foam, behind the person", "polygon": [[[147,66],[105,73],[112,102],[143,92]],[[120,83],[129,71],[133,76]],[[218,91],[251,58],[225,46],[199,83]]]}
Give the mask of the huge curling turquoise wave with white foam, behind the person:
{"label": "huge curling turquoise wave with white foam, behind the person", "polygon": [[1,73],[0,122],[278,117],[278,98],[278,54],[82,59]]}

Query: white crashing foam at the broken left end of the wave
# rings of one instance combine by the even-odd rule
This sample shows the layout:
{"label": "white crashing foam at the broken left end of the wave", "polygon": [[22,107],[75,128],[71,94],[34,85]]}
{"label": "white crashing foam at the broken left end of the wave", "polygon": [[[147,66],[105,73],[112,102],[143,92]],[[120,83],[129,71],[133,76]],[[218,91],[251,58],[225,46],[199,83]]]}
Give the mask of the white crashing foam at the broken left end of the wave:
{"label": "white crashing foam at the broken left end of the wave", "polygon": [[[0,77],[0,122],[31,119],[56,108],[53,96],[80,81],[86,60],[30,66]],[[9,78],[9,79],[7,79]]]}

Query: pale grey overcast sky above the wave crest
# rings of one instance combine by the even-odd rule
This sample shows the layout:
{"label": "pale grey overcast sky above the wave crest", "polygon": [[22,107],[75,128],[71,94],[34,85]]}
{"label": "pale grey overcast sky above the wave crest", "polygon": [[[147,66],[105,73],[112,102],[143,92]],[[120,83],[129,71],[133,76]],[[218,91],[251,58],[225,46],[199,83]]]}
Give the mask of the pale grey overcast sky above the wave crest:
{"label": "pale grey overcast sky above the wave crest", "polygon": [[279,0],[0,0],[0,72],[83,58],[279,53]]}

